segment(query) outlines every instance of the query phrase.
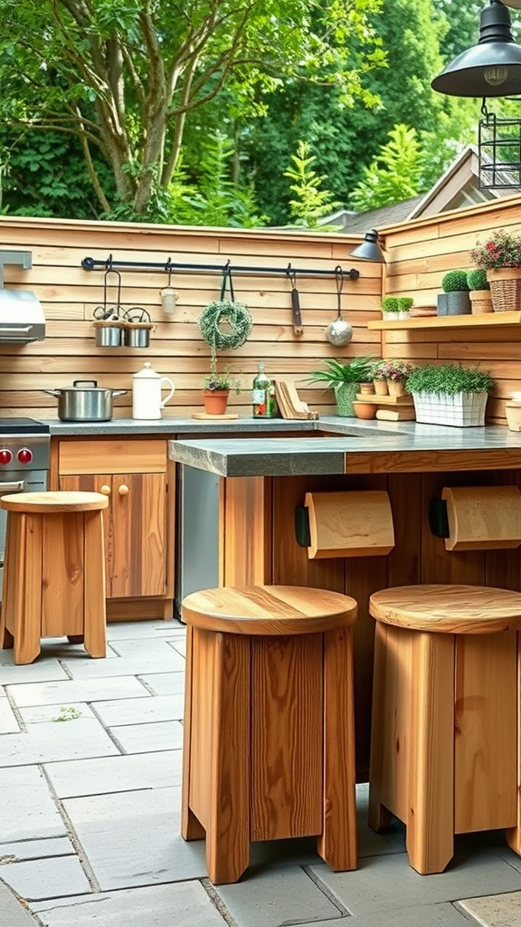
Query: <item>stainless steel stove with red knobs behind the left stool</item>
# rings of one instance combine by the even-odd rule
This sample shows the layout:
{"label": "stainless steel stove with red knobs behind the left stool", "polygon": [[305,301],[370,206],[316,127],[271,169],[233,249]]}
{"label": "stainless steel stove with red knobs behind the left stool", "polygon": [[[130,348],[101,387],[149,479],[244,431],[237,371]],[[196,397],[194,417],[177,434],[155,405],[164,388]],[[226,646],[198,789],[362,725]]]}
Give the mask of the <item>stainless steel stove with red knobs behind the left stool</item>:
{"label": "stainless steel stove with red knobs behind the left stool", "polygon": [[[0,496],[48,487],[49,426],[32,418],[0,418]],[[6,512],[0,509],[0,598],[6,551]]]}

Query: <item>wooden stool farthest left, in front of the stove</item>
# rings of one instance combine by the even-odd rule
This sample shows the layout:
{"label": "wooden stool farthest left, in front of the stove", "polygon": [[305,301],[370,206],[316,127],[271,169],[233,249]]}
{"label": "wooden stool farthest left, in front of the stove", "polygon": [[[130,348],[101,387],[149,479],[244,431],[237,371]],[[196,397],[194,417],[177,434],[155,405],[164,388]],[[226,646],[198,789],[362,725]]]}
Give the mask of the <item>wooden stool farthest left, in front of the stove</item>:
{"label": "wooden stool farthest left, in front of the stove", "polygon": [[105,552],[98,492],[21,492],[2,496],[7,510],[0,648],[32,663],[40,638],[84,641],[105,656]]}

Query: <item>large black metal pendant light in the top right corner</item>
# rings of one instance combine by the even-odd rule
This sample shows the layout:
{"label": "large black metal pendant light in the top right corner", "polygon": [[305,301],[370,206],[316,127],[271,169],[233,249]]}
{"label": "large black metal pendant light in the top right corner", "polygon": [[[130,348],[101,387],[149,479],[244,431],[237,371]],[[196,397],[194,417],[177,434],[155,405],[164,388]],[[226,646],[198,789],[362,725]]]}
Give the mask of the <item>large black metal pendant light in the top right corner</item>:
{"label": "large black metal pendant light in the top right corner", "polygon": [[[511,6],[517,6],[511,0]],[[451,96],[510,96],[521,93],[521,47],[515,44],[510,13],[501,0],[481,10],[479,42],[454,58],[435,77],[433,90]]]}

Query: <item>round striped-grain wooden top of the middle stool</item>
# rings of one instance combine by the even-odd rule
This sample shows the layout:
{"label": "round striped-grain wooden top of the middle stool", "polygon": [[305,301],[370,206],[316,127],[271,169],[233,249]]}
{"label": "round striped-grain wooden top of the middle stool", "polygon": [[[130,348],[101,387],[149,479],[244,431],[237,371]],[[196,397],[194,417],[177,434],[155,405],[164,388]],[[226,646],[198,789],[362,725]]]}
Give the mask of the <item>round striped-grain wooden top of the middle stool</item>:
{"label": "round striped-grain wooden top of the middle stool", "polygon": [[230,634],[314,634],[356,620],[349,595],[300,586],[239,586],[192,592],[181,603],[188,625]]}

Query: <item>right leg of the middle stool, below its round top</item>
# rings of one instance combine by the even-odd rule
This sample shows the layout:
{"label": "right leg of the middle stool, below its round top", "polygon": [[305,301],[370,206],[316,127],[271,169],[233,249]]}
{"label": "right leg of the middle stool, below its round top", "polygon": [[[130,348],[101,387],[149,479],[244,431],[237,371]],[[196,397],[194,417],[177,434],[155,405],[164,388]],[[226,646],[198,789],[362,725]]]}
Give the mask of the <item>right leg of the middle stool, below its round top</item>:
{"label": "right leg of the middle stool, below its round top", "polygon": [[317,851],[332,870],[357,867],[352,633],[324,634],[324,806]]}

